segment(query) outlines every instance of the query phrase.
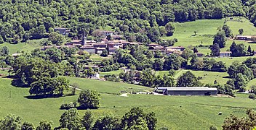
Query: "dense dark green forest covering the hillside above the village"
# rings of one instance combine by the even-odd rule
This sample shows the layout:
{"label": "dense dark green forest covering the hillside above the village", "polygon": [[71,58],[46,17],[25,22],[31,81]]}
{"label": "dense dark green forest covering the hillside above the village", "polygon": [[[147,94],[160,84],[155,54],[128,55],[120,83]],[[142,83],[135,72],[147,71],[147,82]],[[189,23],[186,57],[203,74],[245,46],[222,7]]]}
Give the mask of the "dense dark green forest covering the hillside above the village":
{"label": "dense dark green forest covering the hillside above the village", "polygon": [[71,29],[71,38],[105,29],[130,41],[159,42],[161,36],[172,35],[174,28],[164,27],[169,22],[242,16],[256,23],[254,4],[254,0],[1,0],[0,43],[48,38],[54,27]]}

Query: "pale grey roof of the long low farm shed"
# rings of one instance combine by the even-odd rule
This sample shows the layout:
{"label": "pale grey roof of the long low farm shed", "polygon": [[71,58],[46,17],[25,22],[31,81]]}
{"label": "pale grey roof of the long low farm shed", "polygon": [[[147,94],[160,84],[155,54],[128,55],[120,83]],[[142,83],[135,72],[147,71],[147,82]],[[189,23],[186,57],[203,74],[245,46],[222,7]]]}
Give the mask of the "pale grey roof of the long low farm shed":
{"label": "pale grey roof of the long low farm shed", "polygon": [[168,91],[217,91],[215,87],[157,87],[157,89]]}

